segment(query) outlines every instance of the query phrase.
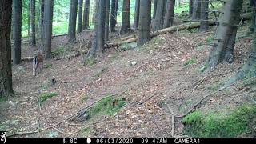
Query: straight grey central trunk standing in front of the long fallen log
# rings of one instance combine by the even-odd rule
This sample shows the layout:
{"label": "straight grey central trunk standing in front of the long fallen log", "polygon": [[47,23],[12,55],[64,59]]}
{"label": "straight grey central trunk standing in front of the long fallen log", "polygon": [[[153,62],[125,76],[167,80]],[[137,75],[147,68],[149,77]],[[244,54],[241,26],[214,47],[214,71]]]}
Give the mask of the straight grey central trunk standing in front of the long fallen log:
{"label": "straight grey central trunk standing in front of the long fallen log", "polygon": [[140,14],[138,24],[138,41],[137,46],[142,46],[150,41],[150,25],[151,25],[151,0],[140,1]]}

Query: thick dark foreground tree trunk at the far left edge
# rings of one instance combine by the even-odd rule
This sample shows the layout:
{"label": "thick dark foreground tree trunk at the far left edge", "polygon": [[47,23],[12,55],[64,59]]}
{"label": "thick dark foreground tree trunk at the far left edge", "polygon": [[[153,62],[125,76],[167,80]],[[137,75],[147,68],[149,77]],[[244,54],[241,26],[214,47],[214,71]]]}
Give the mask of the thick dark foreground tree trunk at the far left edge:
{"label": "thick dark foreground tree trunk at the far left edge", "polygon": [[[22,1],[16,1],[22,2]],[[16,7],[17,4],[14,6]],[[0,99],[14,96],[11,72],[10,27],[12,0],[0,1]],[[19,8],[18,8],[19,9]],[[17,8],[16,8],[17,10]],[[18,13],[22,14],[22,13]]]}

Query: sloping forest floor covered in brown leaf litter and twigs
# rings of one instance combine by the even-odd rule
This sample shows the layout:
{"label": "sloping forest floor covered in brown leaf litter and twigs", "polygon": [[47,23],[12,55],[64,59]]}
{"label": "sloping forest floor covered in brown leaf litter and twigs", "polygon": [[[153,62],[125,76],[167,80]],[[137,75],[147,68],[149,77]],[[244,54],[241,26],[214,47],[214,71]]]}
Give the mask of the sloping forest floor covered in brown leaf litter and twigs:
{"label": "sloping forest floor covered in brown leaf litter and twigs", "polygon": [[[114,116],[94,122],[65,121],[40,133],[18,137],[51,137],[54,132],[58,137],[170,137],[170,109],[175,115],[186,113],[200,98],[226,82],[246,59],[252,39],[240,38],[235,46],[234,63],[222,63],[213,71],[201,73],[214,28],[207,33],[186,30],[180,34],[162,34],[133,50],[110,48],[100,61],[90,66],[83,66],[83,56],[58,61],[52,58],[36,77],[32,75],[32,63],[22,62],[13,66],[16,97],[0,103],[0,123],[6,124],[9,134],[34,131],[54,126],[109,94],[118,94],[129,102]],[[241,28],[238,37],[245,30]],[[78,36],[81,38],[91,38],[91,33],[83,32]],[[70,51],[57,50],[69,46],[66,36],[53,38],[53,43],[53,51],[69,54]],[[74,50],[85,49],[81,41],[74,47]],[[22,56],[33,54],[30,46],[24,45],[22,50],[26,51]],[[53,78],[58,81],[54,85]],[[202,78],[202,83],[195,87],[194,83]],[[252,89],[238,82],[207,98],[200,109],[222,110],[226,106],[233,109],[247,102],[245,93]],[[39,94],[53,92],[57,96],[38,106]],[[174,134],[182,135],[182,130],[182,122],[175,119]]]}

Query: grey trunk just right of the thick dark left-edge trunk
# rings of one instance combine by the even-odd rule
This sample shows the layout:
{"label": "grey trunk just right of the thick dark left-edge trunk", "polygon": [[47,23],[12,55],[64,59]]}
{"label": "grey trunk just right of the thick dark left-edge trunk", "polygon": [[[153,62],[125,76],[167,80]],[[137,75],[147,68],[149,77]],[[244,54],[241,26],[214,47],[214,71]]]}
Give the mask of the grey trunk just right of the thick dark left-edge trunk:
{"label": "grey trunk just right of the thick dark left-edge trunk", "polygon": [[22,59],[21,59],[22,1],[20,0],[13,1],[12,17],[13,17],[12,26],[13,26],[13,37],[14,37],[13,60],[14,60],[14,64],[18,65],[19,63],[22,62]]}

